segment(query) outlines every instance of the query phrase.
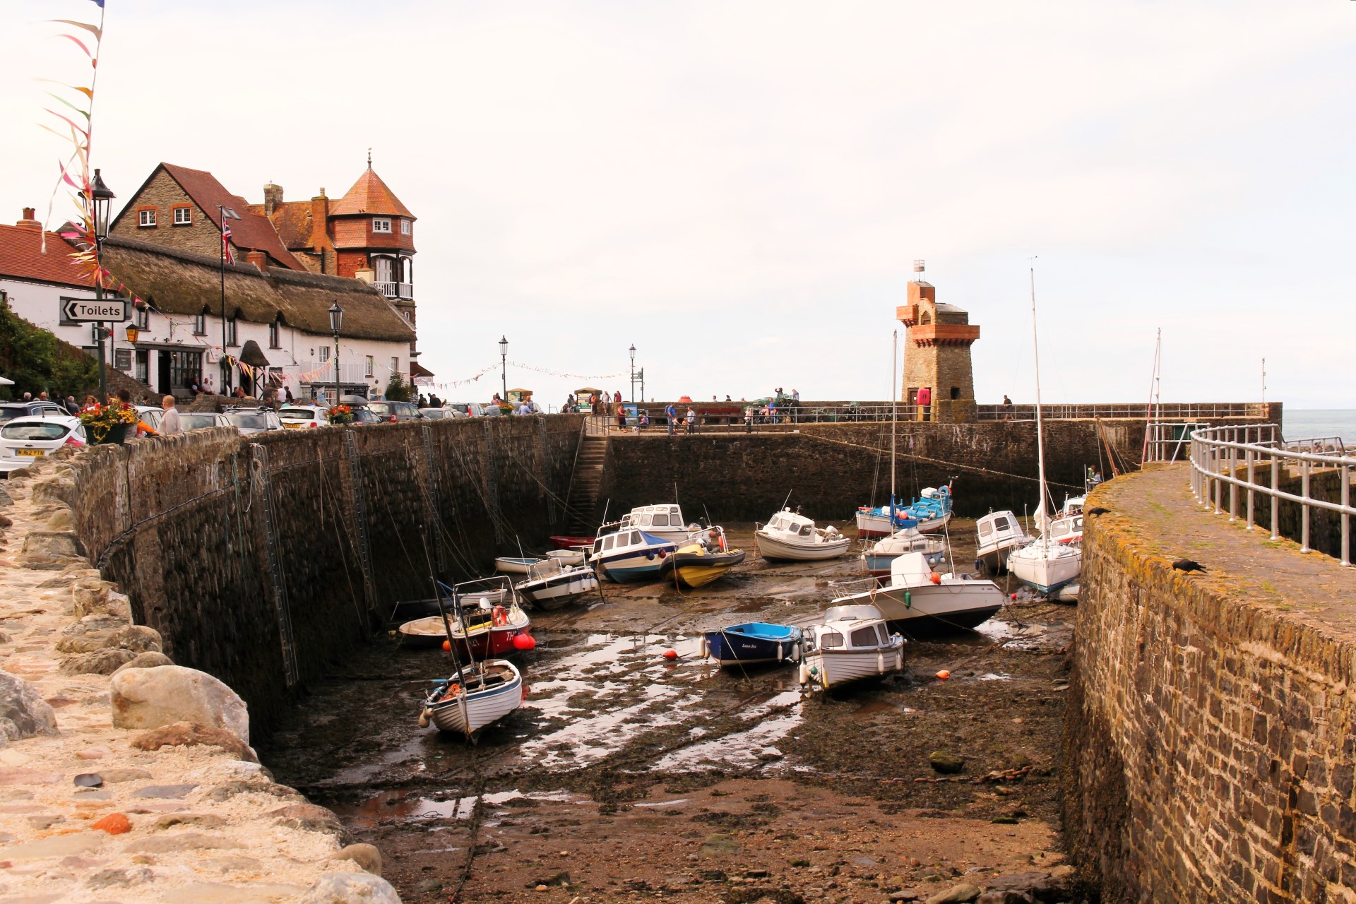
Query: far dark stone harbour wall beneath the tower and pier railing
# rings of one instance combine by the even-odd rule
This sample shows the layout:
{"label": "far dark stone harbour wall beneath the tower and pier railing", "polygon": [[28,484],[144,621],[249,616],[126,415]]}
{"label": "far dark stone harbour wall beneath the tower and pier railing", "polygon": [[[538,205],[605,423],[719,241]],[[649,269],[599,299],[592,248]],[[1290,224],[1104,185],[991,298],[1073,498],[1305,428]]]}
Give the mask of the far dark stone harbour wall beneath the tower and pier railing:
{"label": "far dark stone harbour wall beneath the tower and pier railing", "polygon": [[[1104,420],[1106,442],[1128,462],[1139,462],[1143,420]],[[799,432],[793,432],[799,431]],[[956,511],[978,516],[1036,506],[1035,422],[968,424],[900,422],[899,495],[956,476]],[[1083,469],[1106,477],[1097,422],[1045,423],[1045,465],[1056,501],[1083,489]],[[609,443],[599,507],[625,512],[635,506],[678,500],[685,515],[705,504],[720,520],[766,522],[791,493],[792,508],[823,522],[853,518],[858,506],[890,501],[890,424],[797,424],[789,430],[740,432],[731,428],[679,434],[616,434]],[[601,516],[601,511],[597,512]]]}

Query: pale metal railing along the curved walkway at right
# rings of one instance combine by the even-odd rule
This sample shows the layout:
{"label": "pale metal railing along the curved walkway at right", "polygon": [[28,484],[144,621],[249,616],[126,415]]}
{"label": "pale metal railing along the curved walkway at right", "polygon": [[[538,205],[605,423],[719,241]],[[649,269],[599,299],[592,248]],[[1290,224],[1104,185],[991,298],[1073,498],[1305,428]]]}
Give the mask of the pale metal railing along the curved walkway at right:
{"label": "pale metal railing along the curved walkway at right", "polygon": [[[1356,458],[1345,454],[1299,451],[1288,447],[1281,439],[1277,424],[1250,424],[1242,427],[1204,427],[1191,435],[1191,488],[1196,499],[1205,507],[1214,507],[1215,514],[1224,511],[1224,487],[1229,487],[1229,520],[1238,520],[1238,491],[1248,492],[1248,530],[1256,527],[1253,518],[1254,497],[1262,493],[1271,497],[1272,539],[1280,538],[1280,503],[1296,503],[1300,507],[1299,552],[1309,553],[1309,525],[1314,508],[1337,512],[1341,516],[1341,562],[1351,565],[1351,518],[1352,508],[1351,477]],[[1269,472],[1269,485],[1257,482],[1258,468]],[[1281,469],[1287,476],[1299,473],[1300,491],[1287,493],[1279,489]],[[1248,476],[1239,477],[1239,469]],[[1341,476],[1341,500],[1329,501],[1310,495],[1310,480],[1315,470],[1336,472]]]}

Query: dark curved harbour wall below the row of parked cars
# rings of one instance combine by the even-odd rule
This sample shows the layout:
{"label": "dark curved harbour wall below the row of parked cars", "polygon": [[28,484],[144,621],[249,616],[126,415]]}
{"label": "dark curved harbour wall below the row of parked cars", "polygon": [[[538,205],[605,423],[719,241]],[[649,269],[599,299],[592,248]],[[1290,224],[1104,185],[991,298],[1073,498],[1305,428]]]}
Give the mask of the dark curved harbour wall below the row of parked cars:
{"label": "dark curved harbour wall below the row of parked cars", "polygon": [[[233,687],[264,733],[431,576],[540,548],[579,442],[572,415],[229,430],[61,453],[43,492],[175,663]],[[496,534],[498,525],[498,534]]]}

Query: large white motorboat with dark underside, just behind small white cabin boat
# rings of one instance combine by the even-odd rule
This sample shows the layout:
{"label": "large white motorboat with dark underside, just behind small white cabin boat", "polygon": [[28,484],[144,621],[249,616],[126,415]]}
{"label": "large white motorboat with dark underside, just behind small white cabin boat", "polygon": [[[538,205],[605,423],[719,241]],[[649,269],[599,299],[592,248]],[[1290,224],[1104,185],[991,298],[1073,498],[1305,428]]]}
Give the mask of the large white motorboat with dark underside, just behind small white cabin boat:
{"label": "large white motorboat with dark underside, just behind small white cabin boat", "polygon": [[991,580],[970,575],[940,575],[923,553],[906,553],[890,569],[890,583],[834,600],[834,606],[869,603],[891,628],[907,625],[913,633],[974,628],[989,621],[1006,594]]}

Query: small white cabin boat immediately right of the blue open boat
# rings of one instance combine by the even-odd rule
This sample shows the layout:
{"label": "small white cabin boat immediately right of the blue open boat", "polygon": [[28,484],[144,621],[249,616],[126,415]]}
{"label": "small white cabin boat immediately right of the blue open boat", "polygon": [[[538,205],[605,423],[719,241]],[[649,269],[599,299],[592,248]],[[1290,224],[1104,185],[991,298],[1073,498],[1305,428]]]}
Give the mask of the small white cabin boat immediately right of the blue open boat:
{"label": "small white cabin boat immediately right of the blue open boat", "polygon": [[804,629],[800,683],[829,690],[904,667],[904,638],[885,629],[875,606],[830,606]]}

